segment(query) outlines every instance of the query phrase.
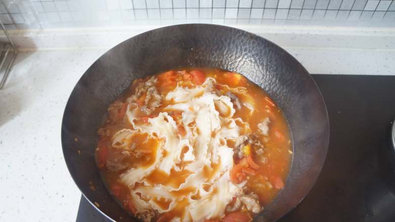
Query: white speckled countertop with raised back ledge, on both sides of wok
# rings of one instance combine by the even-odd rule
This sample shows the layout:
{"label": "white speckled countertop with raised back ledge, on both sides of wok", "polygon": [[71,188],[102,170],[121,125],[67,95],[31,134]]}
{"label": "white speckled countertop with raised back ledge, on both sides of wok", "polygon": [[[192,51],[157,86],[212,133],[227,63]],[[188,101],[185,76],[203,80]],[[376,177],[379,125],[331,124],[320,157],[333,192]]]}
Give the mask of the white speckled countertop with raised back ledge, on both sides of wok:
{"label": "white speckled countertop with raised back ledge, on both sides of wok", "polygon": [[[330,37],[325,32],[331,32]],[[20,48],[39,50],[19,52],[0,91],[0,221],[75,221],[81,193],[63,159],[63,110],[85,70],[109,48],[136,34],[56,33],[14,33]],[[382,35],[344,30],[256,33],[283,46],[310,73],[395,74],[393,30]],[[33,43],[26,43],[29,38]],[[59,42],[64,45],[54,47]]]}

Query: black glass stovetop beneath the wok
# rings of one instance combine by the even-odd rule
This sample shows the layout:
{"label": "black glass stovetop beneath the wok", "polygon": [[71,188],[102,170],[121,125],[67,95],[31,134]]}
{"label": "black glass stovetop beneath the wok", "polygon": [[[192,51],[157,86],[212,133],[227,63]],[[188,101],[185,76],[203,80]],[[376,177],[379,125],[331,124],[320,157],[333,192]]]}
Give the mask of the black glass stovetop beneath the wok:
{"label": "black glass stovetop beneath the wok", "polygon": [[[310,193],[279,221],[395,221],[395,156],[384,152],[395,76],[312,76],[328,109],[328,154]],[[82,197],[76,221],[109,220]]]}

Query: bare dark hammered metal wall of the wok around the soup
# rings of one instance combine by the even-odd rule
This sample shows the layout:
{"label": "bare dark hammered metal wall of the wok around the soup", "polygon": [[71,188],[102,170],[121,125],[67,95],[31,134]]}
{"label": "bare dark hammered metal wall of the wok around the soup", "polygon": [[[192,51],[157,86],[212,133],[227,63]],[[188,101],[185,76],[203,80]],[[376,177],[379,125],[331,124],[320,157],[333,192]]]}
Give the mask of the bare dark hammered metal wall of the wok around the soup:
{"label": "bare dark hammered metal wall of the wok around the soup", "polygon": [[185,24],[147,31],[115,46],[88,68],[70,95],[62,122],[64,159],[75,184],[106,217],[137,221],[114,201],[100,178],[94,158],[97,128],[109,104],[135,78],[189,66],[241,73],[283,110],[292,135],[292,167],[284,190],[255,221],[280,218],[310,191],[324,164],[329,142],[325,103],[294,57],[258,35],[226,26]]}

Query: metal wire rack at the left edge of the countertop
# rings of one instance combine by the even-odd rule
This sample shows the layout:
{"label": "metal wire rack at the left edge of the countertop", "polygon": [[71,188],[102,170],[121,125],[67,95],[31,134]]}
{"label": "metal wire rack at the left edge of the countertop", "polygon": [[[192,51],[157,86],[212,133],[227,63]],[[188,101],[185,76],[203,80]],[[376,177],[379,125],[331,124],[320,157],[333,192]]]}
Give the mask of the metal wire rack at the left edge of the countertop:
{"label": "metal wire rack at the left edge of the countertop", "polygon": [[10,35],[8,34],[6,28],[4,27],[3,22],[0,20],[0,25],[6,35],[6,40],[0,42],[0,77],[2,80],[0,81],[0,90],[6,83],[8,74],[11,71],[12,65],[14,64],[15,58],[18,54],[14,42],[11,40]]}

